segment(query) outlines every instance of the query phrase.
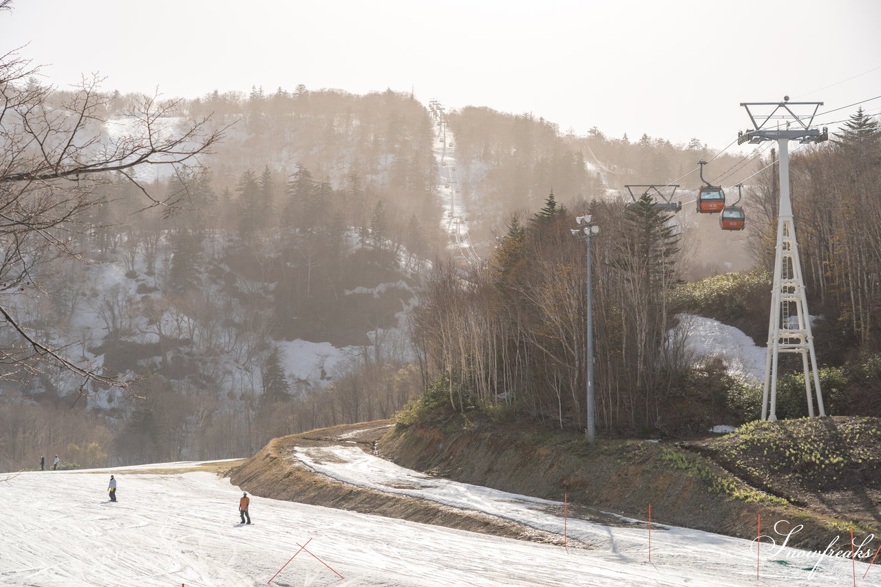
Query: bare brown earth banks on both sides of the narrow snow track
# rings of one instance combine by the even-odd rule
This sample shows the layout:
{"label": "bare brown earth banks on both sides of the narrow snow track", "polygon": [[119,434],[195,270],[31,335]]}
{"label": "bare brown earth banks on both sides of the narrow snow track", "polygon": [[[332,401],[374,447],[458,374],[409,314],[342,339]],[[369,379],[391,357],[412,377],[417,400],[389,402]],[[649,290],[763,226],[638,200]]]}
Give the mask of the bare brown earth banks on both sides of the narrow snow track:
{"label": "bare brown earth banks on both sides of the narrow snow track", "polygon": [[[629,525],[614,514],[644,520],[650,503],[653,522],[744,539],[755,537],[759,514],[763,534],[773,534],[769,530],[779,520],[788,521],[780,526],[784,532],[803,524],[789,544],[811,549],[825,548],[852,521],[861,534],[877,531],[877,503],[863,499],[868,494],[862,490],[793,500],[803,506],[787,502],[772,495],[773,487],[751,485],[714,462],[707,446],[715,440],[683,445],[603,439],[589,447],[579,435],[522,423],[463,430],[449,422],[393,427],[376,421],[278,438],[233,469],[231,477],[234,484],[275,499],[562,544],[562,537],[494,516],[340,483],[289,457],[294,447],[352,442],[373,452],[377,442],[382,457],[416,471],[554,501],[566,494],[569,516],[598,524]],[[848,505],[848,500],[856,502]]]}

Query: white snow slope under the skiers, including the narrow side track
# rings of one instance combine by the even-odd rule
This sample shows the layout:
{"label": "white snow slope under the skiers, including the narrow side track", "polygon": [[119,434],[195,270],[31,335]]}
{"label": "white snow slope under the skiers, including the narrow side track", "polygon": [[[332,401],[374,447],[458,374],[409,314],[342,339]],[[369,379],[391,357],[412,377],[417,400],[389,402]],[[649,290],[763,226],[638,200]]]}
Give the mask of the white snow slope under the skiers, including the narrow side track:
{"label": "white snow slope under the skiers, including the narrow side track", "polygon": [[[428,478],[353,447],[298,452],[337,479],[424,494],[562,532],[559,502]],[[648,533],[641,524],[613,528],[569,519],[568,536],[591,547],[565,548],[252,495],[254,524],[243,526],[241,490],[211,472],[186,472],[186,465],[0,476],[0,584],[265,585],[297,553],[297,544],[310,539],[307,550],[321,561],[300,552],[270,584],[851,584],[850,561],[824,557],[811,575],[803,568],[814,566],[818,556],[787,558],[797,551],[769,545],[761,548],[757,581],[750,541],[681,528],[655,528],[648,562]],[[119,482],[116,503],[107,502],[111,472]],[[548,505],[556,513],[543,511]],[[857,576],[865,568],[857,563]],[[870,573],[862,584],[877,584],[881,570],[872,570],[875,576]]]}

